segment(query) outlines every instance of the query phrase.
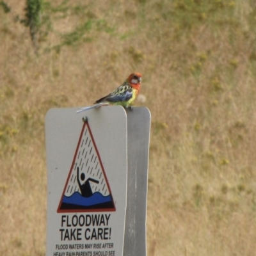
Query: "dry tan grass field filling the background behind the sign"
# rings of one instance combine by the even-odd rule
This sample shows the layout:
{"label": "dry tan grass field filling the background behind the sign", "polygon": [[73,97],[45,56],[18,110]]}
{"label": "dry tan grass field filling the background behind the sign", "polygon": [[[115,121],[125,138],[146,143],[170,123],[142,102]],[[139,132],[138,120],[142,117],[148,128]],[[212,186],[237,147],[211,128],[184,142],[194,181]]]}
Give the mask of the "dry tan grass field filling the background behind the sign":
{"label": "dry tan grass field filling the background behind the sign", "polygon": [[148,256],[255,255],[255,1],[73,0],[37,55],[15,22],[26,1],[6,3],[0,255],[45,255],[47,110],[90,106],[134,71],[152,113]]}

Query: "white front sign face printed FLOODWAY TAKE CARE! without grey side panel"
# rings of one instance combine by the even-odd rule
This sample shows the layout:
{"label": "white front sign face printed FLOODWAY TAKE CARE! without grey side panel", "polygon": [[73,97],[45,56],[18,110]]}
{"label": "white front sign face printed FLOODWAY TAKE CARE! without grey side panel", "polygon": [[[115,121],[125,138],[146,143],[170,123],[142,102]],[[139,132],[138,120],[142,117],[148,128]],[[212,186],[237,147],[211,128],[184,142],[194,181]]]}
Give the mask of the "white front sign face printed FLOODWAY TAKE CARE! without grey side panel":
{"label": "white front sign face printed FLOODWAY TAKE CARE! without grey side panel", "polygon": [[77,110],[50,109],[45,118],[47,256],[120,256],[127,198],[127,114],[116,106],[80,114]]}

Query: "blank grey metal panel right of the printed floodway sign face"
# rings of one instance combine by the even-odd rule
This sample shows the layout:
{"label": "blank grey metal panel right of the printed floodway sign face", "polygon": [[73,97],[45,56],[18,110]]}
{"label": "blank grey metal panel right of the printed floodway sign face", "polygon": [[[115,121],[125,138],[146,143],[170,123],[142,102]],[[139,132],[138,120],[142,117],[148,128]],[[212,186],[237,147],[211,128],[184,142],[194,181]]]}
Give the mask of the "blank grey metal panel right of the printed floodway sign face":
{"label": "blank grey metal panel right of the printed floodway sign face", "polygon": [[148,149],[151,115],[147,108],[127,111],[127,209],[124,255],[145,256]]}

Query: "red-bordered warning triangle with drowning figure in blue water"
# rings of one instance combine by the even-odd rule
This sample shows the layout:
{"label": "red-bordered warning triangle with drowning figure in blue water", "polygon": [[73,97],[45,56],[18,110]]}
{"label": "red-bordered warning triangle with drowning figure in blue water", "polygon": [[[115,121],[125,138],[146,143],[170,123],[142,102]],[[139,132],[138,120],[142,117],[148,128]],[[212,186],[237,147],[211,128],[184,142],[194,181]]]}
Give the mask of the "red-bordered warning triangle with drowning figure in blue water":
{"label": "red-bordered warning triangle with drowning figure in blue water", "polygon": [[116,211],[99,151],[84,122],[57,212]]}

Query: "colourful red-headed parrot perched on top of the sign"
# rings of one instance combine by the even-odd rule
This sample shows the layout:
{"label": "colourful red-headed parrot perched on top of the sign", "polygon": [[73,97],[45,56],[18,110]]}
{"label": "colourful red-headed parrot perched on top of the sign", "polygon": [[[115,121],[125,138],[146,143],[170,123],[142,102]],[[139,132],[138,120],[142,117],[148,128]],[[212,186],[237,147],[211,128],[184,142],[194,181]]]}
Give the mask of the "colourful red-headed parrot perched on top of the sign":
{"label": "colourful red-headed parrot perched on top of the sign", "polygon": [[132,109],[131,104],[140,92],[141,77],[138,72],[132,73],[114,92],[96,100],[93,106],[81,108],[76,113],[108,105],[120,105]]}

